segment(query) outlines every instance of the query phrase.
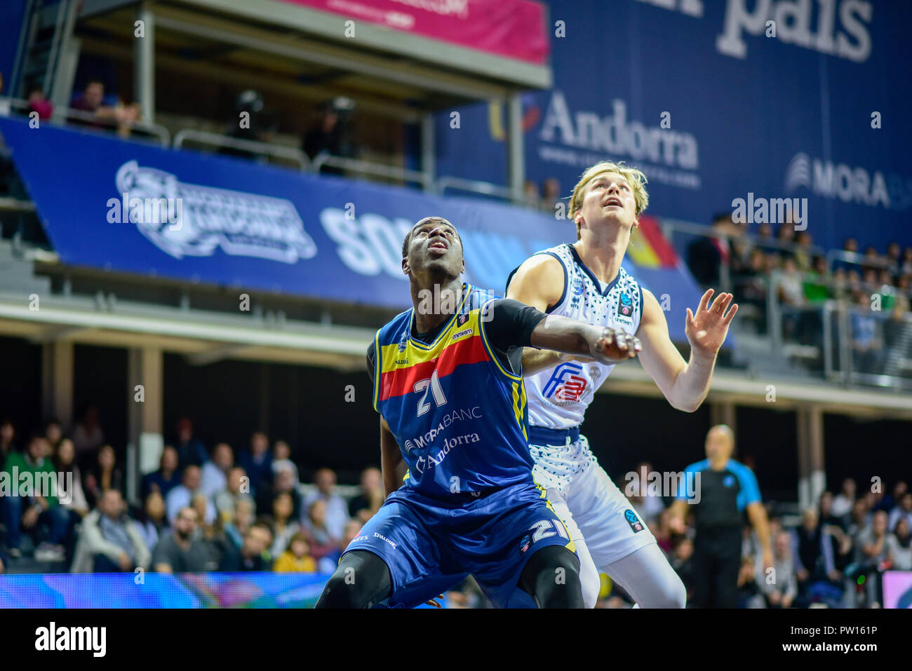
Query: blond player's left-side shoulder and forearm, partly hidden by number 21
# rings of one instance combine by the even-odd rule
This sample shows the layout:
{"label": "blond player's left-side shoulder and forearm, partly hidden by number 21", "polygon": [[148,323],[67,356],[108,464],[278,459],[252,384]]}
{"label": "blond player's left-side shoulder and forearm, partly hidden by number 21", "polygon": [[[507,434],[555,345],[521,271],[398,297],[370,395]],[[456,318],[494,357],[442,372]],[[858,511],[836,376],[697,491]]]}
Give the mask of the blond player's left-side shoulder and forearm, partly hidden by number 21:
{"label": "blond player's left-side shoulder and forearm, partly hidden by number 21", "polygon": [[[545,312],[561,300],[564,282],[561,263],[551,254],[536,254],[516,269],[507,286],[506,297]],[[523,350],[523,375],[532,375],[574,358],[553,350],[526,347]]]}

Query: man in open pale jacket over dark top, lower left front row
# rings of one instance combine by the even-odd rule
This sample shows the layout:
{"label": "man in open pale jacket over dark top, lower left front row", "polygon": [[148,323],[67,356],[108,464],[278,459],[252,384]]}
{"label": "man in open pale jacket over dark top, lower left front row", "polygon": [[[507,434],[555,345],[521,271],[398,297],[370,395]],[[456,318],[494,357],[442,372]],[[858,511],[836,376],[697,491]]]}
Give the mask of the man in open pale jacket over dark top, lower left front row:
{"label": "man in open pale jacket over dark top, lower left front row", "polygon": [[148,569],[149,546],[139,524],[127,516],[119,490],[105,490],[98,509],[86,515],[76,546],[72,573],[119,573]]}

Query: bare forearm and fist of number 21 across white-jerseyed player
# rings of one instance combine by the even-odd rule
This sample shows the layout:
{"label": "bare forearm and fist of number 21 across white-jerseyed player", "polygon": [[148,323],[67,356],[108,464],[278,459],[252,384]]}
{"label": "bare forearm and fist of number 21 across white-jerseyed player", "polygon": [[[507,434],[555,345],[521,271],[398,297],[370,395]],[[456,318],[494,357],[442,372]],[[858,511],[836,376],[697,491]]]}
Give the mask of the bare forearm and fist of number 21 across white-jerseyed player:
{"label": "bare forearm and fist of number 21 across white-jerseyed player", "polygon": [[530,344],[572,355],[591,356],[603,364],[632,359],[639,340],[619,328],[593,326],[559,315],[547,315],[535,326]]}

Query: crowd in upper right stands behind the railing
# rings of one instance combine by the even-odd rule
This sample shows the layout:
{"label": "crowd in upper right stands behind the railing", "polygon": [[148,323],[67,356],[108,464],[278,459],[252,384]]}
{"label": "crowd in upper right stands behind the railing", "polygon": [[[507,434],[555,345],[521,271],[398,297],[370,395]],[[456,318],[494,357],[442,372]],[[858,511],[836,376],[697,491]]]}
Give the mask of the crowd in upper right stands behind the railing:
{"label": "crowd in upper right stands behind the railing", "polygon": [[[781,274],[775,298],[782,306],[782,337],[786,342],[821,347],[824,322],[820,310],[834,299],[850,306],[849,337],[853,368],[863,373],[896,375],[912,357],[912,246],[889,243],[884,253],[875,247],[860,252],[854,238],[845,240],[842,258],[828,263],[814,247],[810,232],[795,231],[791,222],[761,223],[754,235],[747,224],[722,213],[712,223],[714,235],[689,244],[690,272],[703,286],[720,287],[723,269],[731,291],[746,311],[743,320],[766,334],[770,276]],[[834,336],[838,328],[833,326]]]}

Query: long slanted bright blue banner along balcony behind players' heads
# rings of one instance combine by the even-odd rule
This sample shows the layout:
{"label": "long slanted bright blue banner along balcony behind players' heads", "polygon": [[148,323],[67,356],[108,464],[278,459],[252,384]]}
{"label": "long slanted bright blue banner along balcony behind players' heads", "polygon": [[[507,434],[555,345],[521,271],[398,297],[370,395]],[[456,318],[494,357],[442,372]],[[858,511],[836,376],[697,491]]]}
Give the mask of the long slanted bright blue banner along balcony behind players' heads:
{"label": "long slanted bright blue banner along balcony behind players' heads", "polygon": [[[0,119],[0,132],[63,263],[404,309],[402,240],[438,214],[459,229],[468,281],[503,293],[532,253],[575,241],[572,222],[92,131]],[[680,263],[627,271],[668,294],[683,336],[700,290]],[[642,272],[640,272],[642,271]]]}

